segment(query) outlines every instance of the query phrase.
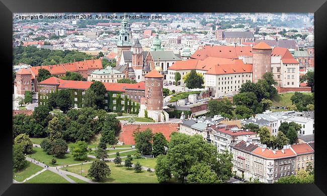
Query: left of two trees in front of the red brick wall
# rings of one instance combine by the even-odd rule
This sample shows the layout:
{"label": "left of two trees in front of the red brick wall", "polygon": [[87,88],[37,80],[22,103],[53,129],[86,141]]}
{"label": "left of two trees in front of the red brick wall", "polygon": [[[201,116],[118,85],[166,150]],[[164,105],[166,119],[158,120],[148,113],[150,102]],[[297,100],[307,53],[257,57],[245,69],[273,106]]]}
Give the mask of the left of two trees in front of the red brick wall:
{"label": "left of two trees in front of the red brick wall", "polygon": [[136,131],[133,133],[135,148],[143,155],[148,155],[152,151],[151,141],[153,139],[152,130],[147,128],[144,131]]}

